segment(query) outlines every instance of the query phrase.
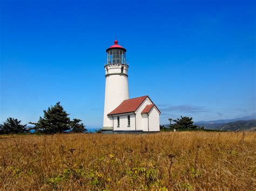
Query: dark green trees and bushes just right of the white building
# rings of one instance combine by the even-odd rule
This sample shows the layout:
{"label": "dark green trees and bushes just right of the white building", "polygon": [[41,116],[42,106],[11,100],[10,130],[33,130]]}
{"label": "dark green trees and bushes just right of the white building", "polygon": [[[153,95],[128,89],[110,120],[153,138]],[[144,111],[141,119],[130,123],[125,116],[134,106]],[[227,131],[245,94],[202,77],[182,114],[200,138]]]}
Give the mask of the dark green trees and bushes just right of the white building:
{"label": "dark green trees and bushes just right of the white building", "polygon": [[[177,119],[168,119],[170,121],[169,126],[160,125],[160,130],[162,131],[173,131],[173,130],[204,130],[203,126],[194,125],[193,118],[192,117],[183,117],[180,116],[180,118]],[[174,122],[174,124],[172,124]]]}

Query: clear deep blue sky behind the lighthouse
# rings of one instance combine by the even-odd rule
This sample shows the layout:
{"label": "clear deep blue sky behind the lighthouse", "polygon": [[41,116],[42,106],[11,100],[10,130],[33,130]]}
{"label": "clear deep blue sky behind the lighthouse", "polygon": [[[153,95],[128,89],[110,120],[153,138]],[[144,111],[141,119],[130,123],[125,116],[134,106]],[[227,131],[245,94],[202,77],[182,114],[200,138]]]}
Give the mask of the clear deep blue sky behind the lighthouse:
{"label": "clear deep blue sky behind the lighthouse", "polygon": [[167,118],[255,114],[254,1],[9,1],[1,9],[0,122],[60,101],[101,127],[105,49],[127,49],[130,97]]}

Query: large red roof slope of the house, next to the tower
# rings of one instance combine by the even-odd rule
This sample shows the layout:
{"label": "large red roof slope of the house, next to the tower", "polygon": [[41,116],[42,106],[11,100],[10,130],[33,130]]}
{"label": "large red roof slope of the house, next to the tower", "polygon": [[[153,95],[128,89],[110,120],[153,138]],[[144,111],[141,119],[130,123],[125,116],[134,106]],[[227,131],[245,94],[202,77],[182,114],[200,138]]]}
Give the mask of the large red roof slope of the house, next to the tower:
{"label": "large red roof slope of the house, next to the tower", "polygon": [[124,100],[116,109],[111,111],[107,115],[115,115],[115,114],[125,114],[128,112],[135,112],[140,104],[146,99],[148,96],[136,97],[129,100]]}

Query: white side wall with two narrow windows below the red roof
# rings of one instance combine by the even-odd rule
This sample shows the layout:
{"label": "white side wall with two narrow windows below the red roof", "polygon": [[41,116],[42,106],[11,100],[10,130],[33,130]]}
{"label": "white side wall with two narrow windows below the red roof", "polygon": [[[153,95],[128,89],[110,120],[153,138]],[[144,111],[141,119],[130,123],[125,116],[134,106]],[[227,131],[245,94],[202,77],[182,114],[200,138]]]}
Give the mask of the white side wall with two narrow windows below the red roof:
{"label": "white side wall with two narrow windows below the red roof", "polygon": [[130,127],[128,126],[128,117],[127,117],[128,114],[119,115],[119,121],[120,121],[119,127],[117,127],[118,116],[114,116],[113,131],[135,131],[135,116],[134,114],[129,114],[129,115],[130,115]]}

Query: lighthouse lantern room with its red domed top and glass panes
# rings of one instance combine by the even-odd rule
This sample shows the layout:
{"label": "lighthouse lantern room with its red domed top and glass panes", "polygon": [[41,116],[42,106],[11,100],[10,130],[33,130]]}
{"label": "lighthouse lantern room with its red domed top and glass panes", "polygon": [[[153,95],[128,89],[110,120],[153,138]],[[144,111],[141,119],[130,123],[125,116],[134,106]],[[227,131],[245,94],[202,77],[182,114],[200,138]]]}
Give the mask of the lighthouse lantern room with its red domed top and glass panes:
{"label": "lighthouse lantern room with its red domed top and glass panes", "polygon": [[113,63],[122,63],[127,64],[125,59],[126,49],[120,45],[118,45],[118,41],[114,41],[114,45],[110,46],[106,49],[107,52],[107,65]]}

